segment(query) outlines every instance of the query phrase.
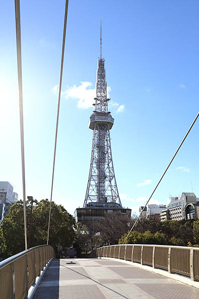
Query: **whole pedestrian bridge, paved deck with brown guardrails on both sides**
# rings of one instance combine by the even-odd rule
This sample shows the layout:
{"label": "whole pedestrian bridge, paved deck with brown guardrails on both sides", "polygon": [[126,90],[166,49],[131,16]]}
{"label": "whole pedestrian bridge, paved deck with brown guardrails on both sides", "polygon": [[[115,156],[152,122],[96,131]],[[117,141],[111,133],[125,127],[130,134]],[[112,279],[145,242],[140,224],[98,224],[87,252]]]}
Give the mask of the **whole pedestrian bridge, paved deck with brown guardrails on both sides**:
{"label": "whole pedestrian bridge, paved deck with brown guardrails on both sides", "polygon": [[[198,252],[189,247],[114,245],[98,249],[98,259],[55,259],[51,246],[37,246],[0,263],[0,299],[199,299],[199,282],[189,274],[190,266],[196,270]],[[149,260],[152,265],[146,264]],[[168,260],[171,273],[163,269]],[[183,265],[186,273],[179,275]]]}

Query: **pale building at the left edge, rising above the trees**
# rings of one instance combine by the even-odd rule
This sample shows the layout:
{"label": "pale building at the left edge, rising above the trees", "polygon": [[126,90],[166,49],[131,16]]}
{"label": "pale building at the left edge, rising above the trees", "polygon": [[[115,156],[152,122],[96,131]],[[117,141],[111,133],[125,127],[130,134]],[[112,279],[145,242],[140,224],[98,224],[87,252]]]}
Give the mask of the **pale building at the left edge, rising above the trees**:
{"label": "pale building at the left edge, rising above the trees", "polygon": [[4,206],[4,215],[7,215],[9,212],[10,206],[15,203],[16,195],[13,196],[13,186],[9,182],[1,181],[0,182],[0,203],[3,203]]}

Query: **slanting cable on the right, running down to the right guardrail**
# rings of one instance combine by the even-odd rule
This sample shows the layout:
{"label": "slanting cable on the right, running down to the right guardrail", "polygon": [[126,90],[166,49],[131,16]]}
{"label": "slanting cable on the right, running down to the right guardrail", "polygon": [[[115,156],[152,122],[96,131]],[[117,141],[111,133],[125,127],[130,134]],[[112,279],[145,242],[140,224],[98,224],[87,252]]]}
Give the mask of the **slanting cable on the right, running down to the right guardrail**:
{"label": "slanting cable on the right, running down to the right guardrail", "polygon": [[161,178],[160,178],[159,182],[157,183],[157,185],[156,185],[155,189],[153,190],[153,192],[152,192],[151,196],[150,196],[150,197],[149,197],[149,199],[147,200],[147,202],[146,202],[145,206],[143,207],[142,211],[140,212],[140,214],[139,214],[138,218],[136,219],[135,223],[134,223],[134,224],[133,224],[133,226],[131,227],[131,230],[129,231],[128,235],[126,236],[126,238],[125,238],[125,240],[124,240],[124,242],[123,242],[122,244],[124,244],[124,243],[126,242],[126,239],[128,238],[128,236],[130,235],[131,231],[133,230],[133,228],[135,227],[136,223],[138,222],[139,218],[141,217],[141,215],[142,215],[142,212],[144,211],[144,209],[145,209],[145,207],[147,206],[147,204],[148,204],[149,200],[150,200],[150,199],[151,199],[151,197],[153,196],[153,194],[154,194],[155,190],[157,189],[157,187],[158,187],[159,183],[161,182],[162,178],[164,177],[165,173],[167,172],[167,170],[168,170],[169,166],[170,166],[170,165],[171,165],[171,163],[173,162],[173,159],[174,159],[174,158],[175,158],[175,156],[177,155],[177,153],[178,153],[179,149],[181,148],[181,146],[183,145],[184,141],[186,140],[186,138],[187,138],[188,134],[189,134],[189,133],[190,133],[190,131],[192,130],[192,128],[193,128],[194,124],[196,123],[196,121],[197,121],[198,117],[199,117],[199,113],[197,114],[197,116],[196,116],[195,120],[193,121],[192,125],[190,126],[189,130],[187,131],[187,133],[186,133],[185,137],[183,138],[183,140],[182,140],[182,142],[181,142],[180,146],[178,147],[178,149],[176,150],[175,154],[173,155],[173,157],[172,157],[171,161],[169,162],[169,164],[168,164],[167,168],[165,169],[165,171],[164,171],[163,175],[161,176]]}

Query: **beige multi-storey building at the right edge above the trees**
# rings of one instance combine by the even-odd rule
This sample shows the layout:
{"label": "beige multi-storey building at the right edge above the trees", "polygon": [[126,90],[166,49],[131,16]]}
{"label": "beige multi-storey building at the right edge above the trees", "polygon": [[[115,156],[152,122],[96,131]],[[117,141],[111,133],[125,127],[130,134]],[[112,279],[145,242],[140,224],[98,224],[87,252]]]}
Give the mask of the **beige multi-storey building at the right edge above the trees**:
{"label": "beige multi-storey building at the right edge above the trees", "polygon": [[[170,197],[166,210],[162,211],[160,220],[199,219],[199,201],[194,193],[183,192],[179,197]],[[167,213],[167,217],[165,217]]]}

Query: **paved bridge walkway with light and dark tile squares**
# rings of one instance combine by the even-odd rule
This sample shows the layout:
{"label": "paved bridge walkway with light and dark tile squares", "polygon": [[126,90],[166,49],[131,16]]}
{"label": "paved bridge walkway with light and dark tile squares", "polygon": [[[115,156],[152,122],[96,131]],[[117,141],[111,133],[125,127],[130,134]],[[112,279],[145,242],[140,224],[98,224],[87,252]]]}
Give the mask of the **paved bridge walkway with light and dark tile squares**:
{"label": "paved bridge walkway with light and dark tile squares", "polygon": [[199,289],[119,261],[54,260],[33,299],[199,299]]}

